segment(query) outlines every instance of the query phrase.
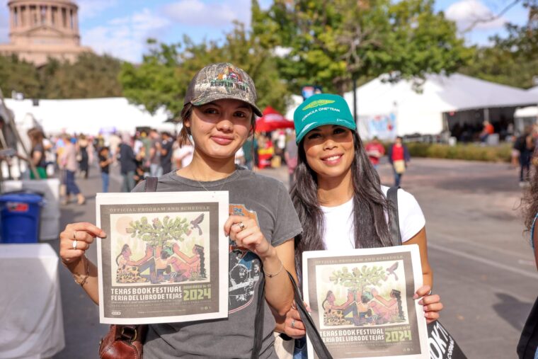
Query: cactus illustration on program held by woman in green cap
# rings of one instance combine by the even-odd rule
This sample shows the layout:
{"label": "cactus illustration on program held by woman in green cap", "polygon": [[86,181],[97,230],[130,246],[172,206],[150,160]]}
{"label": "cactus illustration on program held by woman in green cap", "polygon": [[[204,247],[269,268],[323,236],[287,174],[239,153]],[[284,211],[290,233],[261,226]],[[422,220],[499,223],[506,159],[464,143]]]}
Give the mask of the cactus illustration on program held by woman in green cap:
{"label": "cactus illustration on program held by woman in green cap", "polygon": [[329,280],[334,284],[343,285],[362,294],[365,287],[368,285],[379,286],[382,280],[387,280],[385,269],[381,266],[362,266],[362,268],[343,267],[341,270],[335,270]]}

